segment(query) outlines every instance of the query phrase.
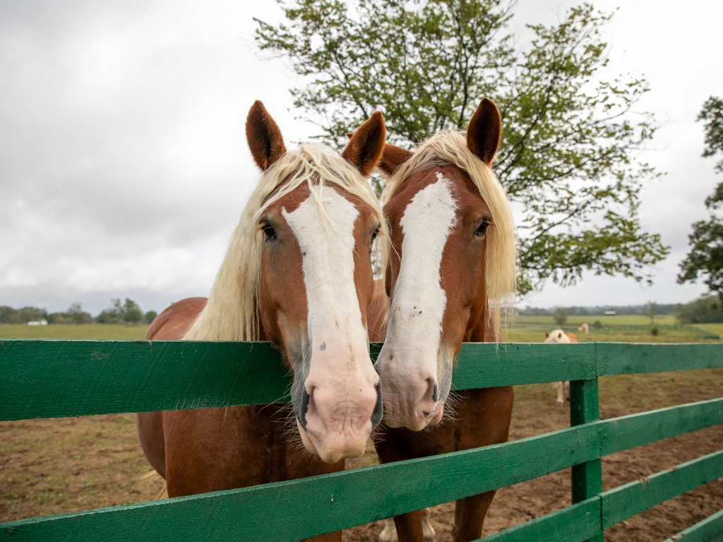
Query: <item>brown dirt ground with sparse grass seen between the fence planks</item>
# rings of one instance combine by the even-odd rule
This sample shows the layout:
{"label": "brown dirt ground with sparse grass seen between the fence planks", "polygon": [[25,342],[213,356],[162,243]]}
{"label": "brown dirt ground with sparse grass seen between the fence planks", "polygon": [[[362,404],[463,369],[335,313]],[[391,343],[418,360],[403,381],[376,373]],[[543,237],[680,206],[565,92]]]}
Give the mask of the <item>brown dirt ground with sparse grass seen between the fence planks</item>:
{"label": "brown dirt ground with sparse grass seen between the fence planks", "polygon": [[[605,377],[602,418],[723,396],[723,369]],[[510,439],[569,426],[549,384],[515,388]],[[604,489],[723,449],[723,426],[619,452],[602,460]],[[374,452],[348,468],[377,463]],[[161,480],[143,457],[134,415],[0,422],[0,521],[152,500]],[[570,470],[497,491],[484,535],[570,504]],[[607,530],[606,541],[660,541],[723,508],[723,479]],[[454,504],[432,509],[437,541],[451,540]],[[376,542],[382,522],[348,529],[345,542]]]}

